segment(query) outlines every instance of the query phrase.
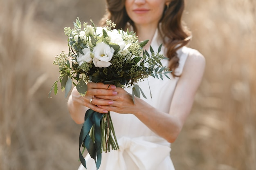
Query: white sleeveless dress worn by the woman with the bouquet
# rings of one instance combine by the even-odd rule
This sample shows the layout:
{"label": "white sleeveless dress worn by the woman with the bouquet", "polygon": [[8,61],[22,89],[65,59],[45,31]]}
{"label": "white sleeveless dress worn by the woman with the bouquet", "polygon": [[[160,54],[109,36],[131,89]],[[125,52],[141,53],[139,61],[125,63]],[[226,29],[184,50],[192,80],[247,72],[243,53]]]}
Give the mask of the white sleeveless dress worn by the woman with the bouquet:
{"label": "white sleeveless dress worn by the woman with the bouquet", "polygon": [[[162,42],[156,31],[151,46],[157,51]],[[182,47],[177,51],[180,58],[179,67],[175,73],[182,73],[186,58],[192,49]],[[164,52],[162,47],[161,52]],[[163,60],[162,64],[168,66],[168,60]],[[179,77],[171,79],[163,76],[162,79],[148,77],[148,81],[139,82],[147,99],[141,96],[150,105],[169,113],[171,100]],[[152,99],[150,97],[151,89]],[[126,89],[131,93],[131,89]],[[137,117],[132,114],[111,113],[115,133],[117,136],[119,150],[103,152],[101,166],[99,170],[174,170],[170,157],[171,144],[152,132]],[[88,154],[85,157],[87,170],[97,170],[94,159]],[[81,165],[78,170],[85,170]]]}

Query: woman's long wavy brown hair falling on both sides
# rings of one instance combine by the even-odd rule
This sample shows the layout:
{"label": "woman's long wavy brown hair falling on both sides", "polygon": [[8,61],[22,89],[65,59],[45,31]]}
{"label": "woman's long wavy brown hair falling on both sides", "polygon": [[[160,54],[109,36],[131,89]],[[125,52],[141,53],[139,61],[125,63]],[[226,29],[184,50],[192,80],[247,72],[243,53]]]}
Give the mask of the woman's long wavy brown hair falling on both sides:
{"label": "woman's long wavy brown hair falling on both sides", "polygon": [[[124,29],[127,23],[134,28],[135,25],[129,18],[125,9],[125,0],[106,0],[106,15],[101,19],[101,25],[106,25],[106,19],[112,20],[117,24],[116,29]],[[171,0],[163,11],[161,20],[159,20],[158,29],[166,47],[166,56],[170,59],[169,68],[172,75],[175,75],[175,68],[179,66],[179,58],[176,51],[186,46],[191,40],[191,33],[182,22],[184,11],[184,0]]]}

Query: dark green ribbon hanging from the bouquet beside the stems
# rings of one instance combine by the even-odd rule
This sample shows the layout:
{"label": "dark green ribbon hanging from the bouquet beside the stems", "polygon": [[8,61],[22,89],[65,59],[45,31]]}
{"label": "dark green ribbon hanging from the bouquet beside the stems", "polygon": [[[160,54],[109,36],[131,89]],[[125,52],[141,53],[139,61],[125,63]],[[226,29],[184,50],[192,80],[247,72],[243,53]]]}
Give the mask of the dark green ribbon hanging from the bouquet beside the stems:
{"label": "dark green ribbon hanging from the bouquet beside the stems", "polygon": [[[94,159],[97,169],[101,165],[101,118],[103,114],[95,112],[89,109],[85,113],[85,122],[83,123],[80,135],[79,135],[79,159],[82,165],[86,168],[85,159],[81,153],[81,146],[87,149],[89,155]],[[89,133],[94,125],[94,142],[90,137]]]}

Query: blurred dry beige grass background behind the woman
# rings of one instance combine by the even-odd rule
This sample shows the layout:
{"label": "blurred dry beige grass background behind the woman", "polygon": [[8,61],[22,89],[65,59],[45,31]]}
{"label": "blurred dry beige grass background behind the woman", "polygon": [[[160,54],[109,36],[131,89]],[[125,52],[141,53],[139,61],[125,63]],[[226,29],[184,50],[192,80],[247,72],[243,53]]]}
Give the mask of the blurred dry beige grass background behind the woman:
{"label": "blurred dry beige grass background behind the woman", "polygon": [[[98,22],[103,0],[0,0],[0,170],[75,170],[76,125],[54,56],[67,51],[64,26]],[[255,170],[256,1],[187,0],[190,46],[207,60],[184,129],[172,144],[176,170]]]}

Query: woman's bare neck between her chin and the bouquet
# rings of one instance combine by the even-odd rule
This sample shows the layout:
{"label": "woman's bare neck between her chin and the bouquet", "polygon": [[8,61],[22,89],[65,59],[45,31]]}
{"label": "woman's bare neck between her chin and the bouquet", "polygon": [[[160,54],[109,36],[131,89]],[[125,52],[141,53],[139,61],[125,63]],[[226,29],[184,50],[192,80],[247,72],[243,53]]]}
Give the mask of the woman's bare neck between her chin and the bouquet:
{"label": "woman's bare neck between her chin and the bouquet", "polygon": [[152,26],[152,25],[147,25],[147,26],[143,26],[143,25],[135,25],[136,27],[136,35],[139,38],[139,41],[144,41],[144,40],[149,40],[148,43],[146,44],[146,46],[144,46],[143,49],[148,49],[151,41],[155,35],[155,30],[157,29],[157,26]]}

